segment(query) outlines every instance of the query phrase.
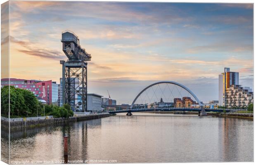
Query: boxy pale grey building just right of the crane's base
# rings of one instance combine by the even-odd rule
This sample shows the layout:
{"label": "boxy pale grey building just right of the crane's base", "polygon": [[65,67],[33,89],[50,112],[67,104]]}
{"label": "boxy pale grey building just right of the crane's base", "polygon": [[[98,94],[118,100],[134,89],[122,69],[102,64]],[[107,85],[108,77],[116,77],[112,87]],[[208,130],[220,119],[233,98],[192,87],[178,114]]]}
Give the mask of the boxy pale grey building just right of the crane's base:
{"label": "boxy pale grey building just right of the crane's base", "polygon": [[92,112],[101,112],[102,111],[102,102],[101,98],[103,96],[95,93],[87,94],[87,111]]}

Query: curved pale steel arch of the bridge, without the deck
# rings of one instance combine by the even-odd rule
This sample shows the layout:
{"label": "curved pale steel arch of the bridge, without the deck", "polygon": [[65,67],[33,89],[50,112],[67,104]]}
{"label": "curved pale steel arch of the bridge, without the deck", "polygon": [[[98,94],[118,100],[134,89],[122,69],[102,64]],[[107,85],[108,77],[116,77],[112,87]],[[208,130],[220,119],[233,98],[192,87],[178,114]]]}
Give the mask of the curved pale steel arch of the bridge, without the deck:
{"label": "curved pale steel arch of the bridge, without the deck", "polygon": [[189,92],[193,97],[194,99],[196,99],[197,103],[199,104],[200,108],[201,108],[201,115],[207,115],[205,109],[204,109],[204,106],[201,104],[201,102],[199,101],[199,99],[197,98],[197,96],[191,91],[189,90],[187,87],[185,87],[184,85],[182,84],[179,84],[178,82],[174,82],[174,81],[159,81],[159,82],[155,82],[147,87],[145,87],[136,97],[135,99],[133,100],[133,103],[131,104],[130,106],[130,109],[133,108],[133,105],[135,104],[136,100],[138,97],[140,97],[140,94],[142,94],[145,90],[147,90],[148,88],[154,86],[154,85],[158,85],[158,84],[174,84],[174,85],[178,85],[179,87],[182,87],[183,89],[185,89],[187,92]]}

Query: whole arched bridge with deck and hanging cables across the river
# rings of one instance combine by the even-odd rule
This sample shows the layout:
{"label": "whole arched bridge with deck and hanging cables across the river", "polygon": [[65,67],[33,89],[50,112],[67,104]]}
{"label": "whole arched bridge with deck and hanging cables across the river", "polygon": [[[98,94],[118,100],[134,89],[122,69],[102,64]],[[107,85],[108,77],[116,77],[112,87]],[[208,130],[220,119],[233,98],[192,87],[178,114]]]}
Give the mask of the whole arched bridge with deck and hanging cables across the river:
{"label": "whole arched bridge with deck and hanging cables across the river", "polygon": [[156,110],[198,111],[201,116],[207,115],[206,111],[209,111],[204,109],[197,96],[184,85],[173,81],[159,81],[139,92],[129,108],[107,112],[128,112],[127,115],[132,115],[131,112]]}

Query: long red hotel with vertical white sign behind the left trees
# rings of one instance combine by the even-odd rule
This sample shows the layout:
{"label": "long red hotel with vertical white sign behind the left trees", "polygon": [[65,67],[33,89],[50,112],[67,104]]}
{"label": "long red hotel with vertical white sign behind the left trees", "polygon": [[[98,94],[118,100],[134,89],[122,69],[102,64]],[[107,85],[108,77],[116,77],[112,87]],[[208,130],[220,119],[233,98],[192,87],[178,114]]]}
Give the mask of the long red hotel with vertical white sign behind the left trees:
{"label": "long red hotel with vertical white sign behind the left trees", "polygon": [[42,102],[42,99],[45,100],[46,104],[57,104],[58,102],[58,84],[52,80],[41,81],[3,78],[1,79],[1,87],[5,85],[12,85],[17,88],[29,90],[33,92],[39,101],[41,100]]}

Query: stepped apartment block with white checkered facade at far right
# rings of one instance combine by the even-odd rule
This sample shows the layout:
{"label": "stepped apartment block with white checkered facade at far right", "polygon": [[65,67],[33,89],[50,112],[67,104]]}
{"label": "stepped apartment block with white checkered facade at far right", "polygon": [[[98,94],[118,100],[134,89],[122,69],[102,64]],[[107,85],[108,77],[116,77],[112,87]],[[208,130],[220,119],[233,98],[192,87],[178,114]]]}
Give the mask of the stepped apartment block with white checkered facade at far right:
{"label": "stepped apartment block with white checkered facade at far right", "polygon": [[244,89],[241,85],[231,85],[226,90],[225,106],[227,108],[234,107],[246,107],[253,103],[253,92],[249,92],[249,89]]}

